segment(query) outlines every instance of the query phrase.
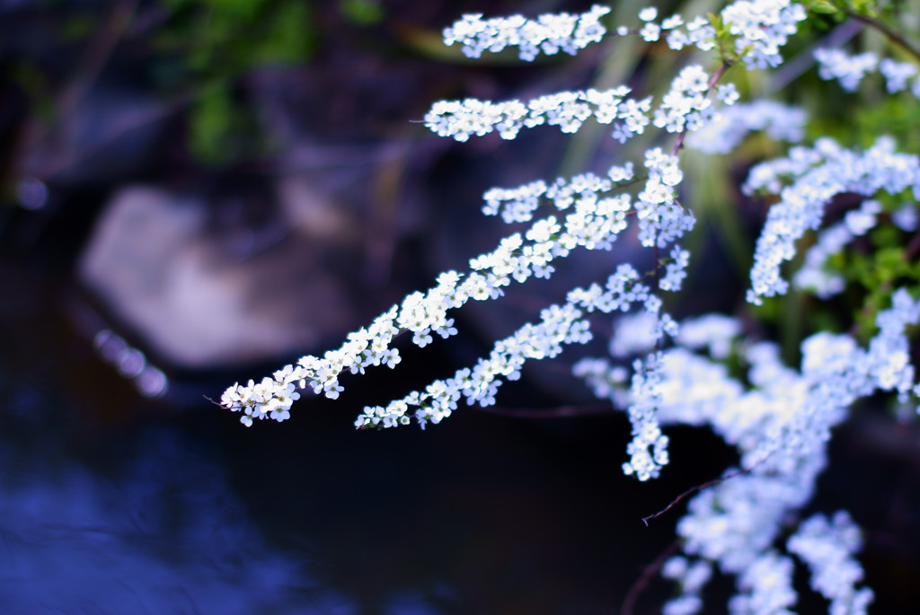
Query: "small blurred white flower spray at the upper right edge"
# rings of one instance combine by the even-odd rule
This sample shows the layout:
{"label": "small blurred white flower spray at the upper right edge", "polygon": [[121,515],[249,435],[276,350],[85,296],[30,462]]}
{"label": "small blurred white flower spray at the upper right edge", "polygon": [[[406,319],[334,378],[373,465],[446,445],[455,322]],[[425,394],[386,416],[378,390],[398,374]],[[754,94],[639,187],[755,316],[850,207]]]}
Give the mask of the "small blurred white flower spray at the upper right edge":
{"label": "small blurred white flower spray at the upper right edge", "polygon": [[915,97],[920,98],[920,74],[914,64],[891,58],[880,59],[871,51],[853,55],[840,49],[826,48],[815,50],[814,58],[818,61],[821,78],[839,81],[847,92],[855,92],[867,74],[879,72],[885,77],[885,88],[889,94],[909,88]]}

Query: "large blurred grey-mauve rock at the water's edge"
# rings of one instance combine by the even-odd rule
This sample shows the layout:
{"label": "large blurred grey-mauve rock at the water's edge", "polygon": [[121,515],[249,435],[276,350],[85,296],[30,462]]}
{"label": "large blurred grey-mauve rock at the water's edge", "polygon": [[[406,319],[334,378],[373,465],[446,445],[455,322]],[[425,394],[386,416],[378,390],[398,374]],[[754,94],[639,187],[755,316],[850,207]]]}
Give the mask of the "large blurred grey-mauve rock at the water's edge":
{"label": "large blurred grey-mauve rock at the water's edge", "polygon": [[212,226],[201,199],[124,188],[98,221],[79,277],[180,368],[290,360],[351,328],[349,290],[328,271],[330,259],[348,267],[334,238],[307,236],[283,219],[268,242]]}

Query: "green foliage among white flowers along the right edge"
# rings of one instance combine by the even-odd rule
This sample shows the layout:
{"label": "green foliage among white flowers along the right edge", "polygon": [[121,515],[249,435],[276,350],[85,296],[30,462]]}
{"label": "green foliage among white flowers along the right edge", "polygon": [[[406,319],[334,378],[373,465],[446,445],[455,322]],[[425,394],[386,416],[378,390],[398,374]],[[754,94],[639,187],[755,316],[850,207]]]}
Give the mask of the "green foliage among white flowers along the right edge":
{"label": "green foliage among white flowers along the right edge", "polygon": [[[893,55],[901,62],[920,62],[901,38],[904,34],[912,34],[904,32],[897,19],[903,3],[805,0],[802,4],[811,13],[809,24],[817,29],[834,28],[848,18],[861,21],[865,28],[846,45],[851,51],[880,51],[877,48],[881,46],[888,51],[880,51],[880,55]],[[858,91],[851,94],[839,86],[827,87],[827,82],[812,68],[799,75],[794,87],[797,102],[809,110],[806,142],[829,136],[838,142],[866,148],[880,135],[891,135],[898,141],[899,150],[920,150],[920,106],[916,104],[916,97],[910,92],[889,94],[880,74],[866,75]],[[912,251],[911,237],[887,219],[891,211],[909,199],[912,199],[910,195],[880,198],[887,212],[882,214],[880,224],[868,237],[858,238],[841,254],[828,260],[828,270],[845,279],[847,290],[830,302],[809,302],[805,316],[809,329],[840,330],[855,317],[855,333],[866,341],[876,331],[877,314],[891,305],[893,290],[920,290],[917,248]],[[783,314],[795,309],[799,297],[790,293],[776,301],[776,304],[765,302],[757,310],[758,317],[776,323]]]}

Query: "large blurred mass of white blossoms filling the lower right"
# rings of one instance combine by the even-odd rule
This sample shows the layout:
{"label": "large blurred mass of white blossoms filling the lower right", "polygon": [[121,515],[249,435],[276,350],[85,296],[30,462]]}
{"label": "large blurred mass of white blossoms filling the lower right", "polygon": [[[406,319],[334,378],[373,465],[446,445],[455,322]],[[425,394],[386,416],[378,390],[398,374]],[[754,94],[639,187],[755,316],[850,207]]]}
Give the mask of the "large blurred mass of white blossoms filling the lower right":
{"label": "large blurred mass of white blossoms filling the lower right", "polygon": [[[802,343],[800,369],[790,370],[782,365],[774,344],[741,347],[750,366],[747,386],[731,377],[719,360],[690,349],[716,348],[713,355],[719,359],[730,355],[740,326],[722,315],[682,325],[676,335],[682,346],[659,351],[648,365],[637,362],[628,391],[626,370],[602,359],[580,361],[575,373],[586,378],[595,393],[615,404],[626,402],[631,420],[645,413],[633,425],[648,430],[641,439],[649,444],[647,456],[655,452],[658,438],[665,438],[662,449],[667,444],[659,425],[671,423],[709,426],[742,455],[743,472],[730,469],[721,483],[696,495],[678,523],[683,558],[692,559],[665,566],[684,590],[665,612],[693,613],[701,608],[700,587],[707,575],[694,573],[694,582],[687,578],[699,561],[736,575],[739,595],[730,602],[731,612],[789,612],[797,599],[792,560],[777,551],[776,540],[788,527],[790,513],[811,499],[826,463],[830,430],[844,420],[846,408],[877,391],[903,397],[920,393],[905,334],[918,323],[920,300],[897,290],[891,308],[879,314],[879,333],[867,348],[858,347],[851,336],[819,333]],[[652,364],[657,369],[650,375]],[[653,414],[648,410],[652,405]],[[654,475],[660,464],[646,460],[640,467]],[[625,470],[631,473],[634,468],[627,463]],[[832,612],[864,613],[872,597],[868,589],[856,588],[862,571],[852,558],[858,548],[854,531],[843,517],[835,518],[833,528],[826,521],[812,520],[788,543],[788,553],[809,564],[813,587],[838,601],[841,610]]]}

